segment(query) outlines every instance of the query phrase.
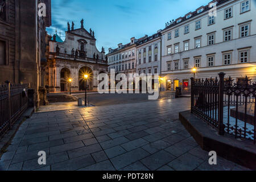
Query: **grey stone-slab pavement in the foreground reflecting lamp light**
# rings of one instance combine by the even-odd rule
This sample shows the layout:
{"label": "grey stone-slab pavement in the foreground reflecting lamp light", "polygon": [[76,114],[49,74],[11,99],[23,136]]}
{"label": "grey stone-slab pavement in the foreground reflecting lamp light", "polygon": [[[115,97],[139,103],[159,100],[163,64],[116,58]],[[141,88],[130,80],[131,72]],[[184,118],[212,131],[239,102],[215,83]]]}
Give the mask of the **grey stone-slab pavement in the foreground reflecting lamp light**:
{"label": "grey stone-slab pavement in the foreground reflecting lamp light", "polygon": [[[177,120],[189,98],[36,113],[0,164],[7,170],[246,170],[217,158],[208,164]],[[38,151],[47,154],[38,164]]]}

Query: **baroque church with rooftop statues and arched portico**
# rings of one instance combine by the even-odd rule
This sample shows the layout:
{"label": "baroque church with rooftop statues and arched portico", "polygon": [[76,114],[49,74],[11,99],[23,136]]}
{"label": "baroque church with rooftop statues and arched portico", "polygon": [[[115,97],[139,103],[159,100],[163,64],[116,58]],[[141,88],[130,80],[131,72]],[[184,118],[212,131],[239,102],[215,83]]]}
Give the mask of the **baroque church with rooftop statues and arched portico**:
{"label": "baroque church with rooftop statues and arched portico", "polygon": [[43,80],[49,92],[85,90],[85,74],[89,75],[87,89],[97,90],[97,76],[108,72],[105,49],[98,51],[94,31],[85,30],[84,19],[78,29],[73,22],[71,26],[68,23],[64,41],[57,34],[53,35],[47,49]]}

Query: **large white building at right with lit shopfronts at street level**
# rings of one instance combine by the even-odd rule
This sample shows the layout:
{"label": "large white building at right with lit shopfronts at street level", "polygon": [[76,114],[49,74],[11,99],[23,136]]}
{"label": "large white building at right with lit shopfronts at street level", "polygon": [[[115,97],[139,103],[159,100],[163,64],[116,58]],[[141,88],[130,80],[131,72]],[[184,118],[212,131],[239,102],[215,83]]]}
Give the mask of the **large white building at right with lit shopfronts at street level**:
{"label": "large white building at right with lit shopfronts at street level", "polygon": [[162,86],[184,90],[195,78],[226,73],[256,81],[256,5],[252,0],[212,1],[167,24],[162,33]]}

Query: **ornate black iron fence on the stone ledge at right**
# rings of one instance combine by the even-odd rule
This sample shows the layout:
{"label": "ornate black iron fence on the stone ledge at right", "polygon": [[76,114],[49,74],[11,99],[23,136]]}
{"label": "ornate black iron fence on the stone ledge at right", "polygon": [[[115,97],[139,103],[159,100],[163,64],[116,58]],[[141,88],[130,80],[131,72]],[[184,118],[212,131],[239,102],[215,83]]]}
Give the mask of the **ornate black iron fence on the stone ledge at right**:
{"label": "ornate black iron fence on the stone ledge at right", "polygon": [[256,141],[256,83],[247,76],[234,82],[231,77],[191,78],[191,112],[218,129],[220,135]]}

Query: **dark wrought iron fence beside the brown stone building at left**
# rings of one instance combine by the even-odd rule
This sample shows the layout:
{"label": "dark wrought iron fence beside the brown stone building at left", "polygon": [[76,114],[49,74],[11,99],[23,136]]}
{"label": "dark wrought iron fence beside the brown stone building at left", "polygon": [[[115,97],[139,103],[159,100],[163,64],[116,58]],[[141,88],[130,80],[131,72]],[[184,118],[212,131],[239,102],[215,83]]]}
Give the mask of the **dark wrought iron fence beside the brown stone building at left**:
{"label": "dark wrought iron fence beside the brown stone building at left", "polygon": [[27,109],[27,84],[0,84],[0,138]]}

